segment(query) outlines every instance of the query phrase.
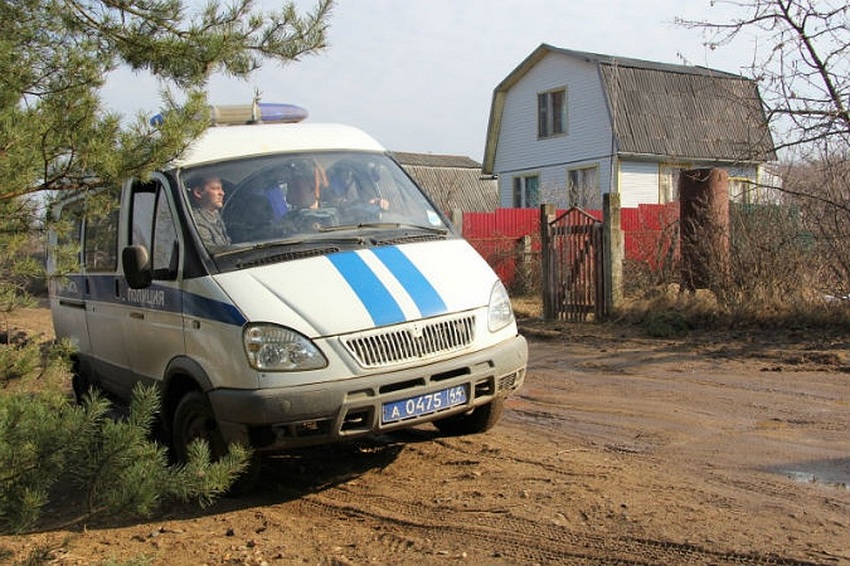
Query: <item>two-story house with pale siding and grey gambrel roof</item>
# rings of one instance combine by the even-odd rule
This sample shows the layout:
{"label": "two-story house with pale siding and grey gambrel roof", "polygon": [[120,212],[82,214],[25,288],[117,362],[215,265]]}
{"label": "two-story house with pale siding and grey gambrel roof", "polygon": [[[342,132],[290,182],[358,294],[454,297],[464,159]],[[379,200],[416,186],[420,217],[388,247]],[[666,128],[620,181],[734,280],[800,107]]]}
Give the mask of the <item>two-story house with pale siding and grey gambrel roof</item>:
{"label": "two-story house with pale siding and grey gambrel roof", "polygon": [[494,90],[483,172],[500,205],[597,208],[677,200],[682,170],[721,167],[730,197],[764,198],[776,159],[754,81],[542,44]]}

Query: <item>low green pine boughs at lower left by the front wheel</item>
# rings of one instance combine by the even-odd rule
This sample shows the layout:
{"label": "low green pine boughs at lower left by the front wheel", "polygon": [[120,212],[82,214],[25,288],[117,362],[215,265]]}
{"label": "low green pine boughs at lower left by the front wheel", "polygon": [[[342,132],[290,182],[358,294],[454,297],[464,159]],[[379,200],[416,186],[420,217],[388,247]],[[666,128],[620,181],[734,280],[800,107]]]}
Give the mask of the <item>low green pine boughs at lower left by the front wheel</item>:
{"label": "low green pine boughs at lower left by the front wheel", "polygon": [[96,515],[149,516],[172,501],[213,502],[245,472],[250,453],[231,447],[211,461],[209,447],[192,445],[185,464],[172,464],[152,439],[159,398],[137,386],[126,418],[92,392],[82,405],[56,389],[0,395],[0,532],[37,523],[57,484],[82,494],[70,523]]}

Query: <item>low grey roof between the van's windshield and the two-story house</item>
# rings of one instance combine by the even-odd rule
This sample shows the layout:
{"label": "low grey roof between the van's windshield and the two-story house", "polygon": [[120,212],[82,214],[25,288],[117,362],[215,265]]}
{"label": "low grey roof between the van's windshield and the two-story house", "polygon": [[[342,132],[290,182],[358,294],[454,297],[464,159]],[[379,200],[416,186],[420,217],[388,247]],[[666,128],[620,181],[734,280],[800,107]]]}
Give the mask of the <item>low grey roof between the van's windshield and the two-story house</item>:
{"label": "low grey roof between the van's windshield and the two-story house", "polygon": [[499,187],[481,173],[481,164],[462,155],[390,154],[425,190],[443,212],[488,212],[499,206]]}

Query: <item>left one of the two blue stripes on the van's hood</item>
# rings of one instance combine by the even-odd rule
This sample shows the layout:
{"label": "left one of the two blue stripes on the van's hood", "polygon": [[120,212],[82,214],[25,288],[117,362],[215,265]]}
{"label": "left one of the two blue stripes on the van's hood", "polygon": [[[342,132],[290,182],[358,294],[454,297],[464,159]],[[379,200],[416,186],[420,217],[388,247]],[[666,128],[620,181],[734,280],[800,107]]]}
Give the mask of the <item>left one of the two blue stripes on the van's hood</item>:
{"label": "left one of the two blue stripes on the van's hood", "polygon": [[375,326],[405,320],[401,307],[359,255],[341,252],[329,255],[328,259],[363,303]]}

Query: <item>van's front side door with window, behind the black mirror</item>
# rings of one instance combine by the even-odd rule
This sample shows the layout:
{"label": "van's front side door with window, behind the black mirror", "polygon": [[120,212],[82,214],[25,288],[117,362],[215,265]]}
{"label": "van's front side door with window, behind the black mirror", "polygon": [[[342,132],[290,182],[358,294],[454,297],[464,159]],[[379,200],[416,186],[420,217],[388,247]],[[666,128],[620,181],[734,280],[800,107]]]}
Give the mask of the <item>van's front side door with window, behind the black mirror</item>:
{"label": "van's front side door with window, behind the black mirror", "polygon": [[146,383],[161,380],[168,362],[185,351],[178,277],[181,246],[167,182],[161,176],[136,181],[129,198],[130,245],[149,250],[153,281],[145,289],[130,289],[124,282],[128,306],[124,338],[134,378]]}

